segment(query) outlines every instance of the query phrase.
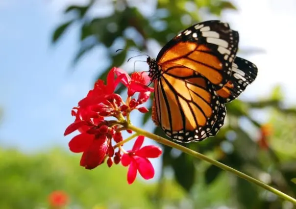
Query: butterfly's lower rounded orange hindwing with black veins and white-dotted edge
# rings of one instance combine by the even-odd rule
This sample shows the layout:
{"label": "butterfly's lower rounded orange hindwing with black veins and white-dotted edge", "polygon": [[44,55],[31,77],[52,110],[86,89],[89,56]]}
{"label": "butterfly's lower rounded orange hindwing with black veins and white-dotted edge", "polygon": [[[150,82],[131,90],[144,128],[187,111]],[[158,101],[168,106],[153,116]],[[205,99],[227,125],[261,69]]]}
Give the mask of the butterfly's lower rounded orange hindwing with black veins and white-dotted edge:
{"label": "butterfly's lower rounded orange hindwing with black veins and white-dotted edge", "polygon": [[[182,70],[186,77],[173,75]],[[171,68],[154,81],[152,119],[175,141],[201,141],[213,135],[219,106],[211,82],[189,68]]]}

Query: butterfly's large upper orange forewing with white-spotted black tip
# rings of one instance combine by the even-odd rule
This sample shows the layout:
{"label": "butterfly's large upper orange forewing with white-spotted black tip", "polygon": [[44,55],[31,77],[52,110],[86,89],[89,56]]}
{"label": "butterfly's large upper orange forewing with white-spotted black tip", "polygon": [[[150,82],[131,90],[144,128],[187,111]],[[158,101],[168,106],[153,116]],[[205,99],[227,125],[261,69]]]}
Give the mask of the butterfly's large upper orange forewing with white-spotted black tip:
{"label": "butterfly's large upper orange forewing with white-spotted black tip", "polygon": [[238,41],[238,32],[228,24],[206,21],[175,36],[162,48],[156,61],[161,69],[168,63],[192,69],[218,89],[231,77]]}

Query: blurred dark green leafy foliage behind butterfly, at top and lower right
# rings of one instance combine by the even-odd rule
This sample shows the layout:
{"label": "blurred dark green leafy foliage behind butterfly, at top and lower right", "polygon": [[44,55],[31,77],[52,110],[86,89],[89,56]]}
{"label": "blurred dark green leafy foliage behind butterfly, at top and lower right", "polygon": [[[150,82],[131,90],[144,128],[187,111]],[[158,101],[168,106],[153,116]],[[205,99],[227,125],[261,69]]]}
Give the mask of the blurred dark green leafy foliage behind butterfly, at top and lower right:
{"label": "blurred dark green leafy foliage behind butterfly, at top and lower right", "polygon": [[[109,65],[99,73],[99,78],[104,79],[111,67],[121,66],[128,58],[125,51],[116,54],[115,49],[150,52],[148,44],[151,41],[164,46],[179,31],[202,21],[205,16],[219,19],[223,11],[236,10],[234,4],[225,0],[157,0],[155,5],[151,5],[152,12],[149,13],[146,11],[148,8],[143,9],[147,3],[145,0],[115,0],[108,3],[90,0],[87,5],[70,5],[64,11],[67,21],[55,29],[52,43],[58,42],[70,26],[78,24],[80,47],[74,56],[74,64],[96,47],[103,46],[109,57],[109,60],[106,60]],[[104,8],[110,12],[96,15],[92,13],[94,9],[103,11]],[[122,89],[118,92],[121,91]],[[296,177],[296,169],[292,162],[295,162],[296,158],[296,143],[293,139],[295,134],[291,130],[295,130],[296,110],[284,108],[282,99],[280,88],[277,87],[272,95],[264,100],[236,100],[227,104],[227,120],[218,135],[201,143],[185,146],[295,197],[296,187],[292,179]],[[275,127],[274,135],[266,138],[272,139],[267,141],[268,144],[271,142],[268,149],[258,145],[262,133],[262,124],[254,117],[258,111],[264,112],[266,117],[274,115],[271,121]],[[143,125],[150,120],[150,114],[151,112],[143,117]],[[166,137],[159,128],[155,128],[154,133]],[[294,141],[279,149],[287,137]],[[172,174],[167,174],[168,169],[173,171],[173,179],[187,193],[184,197],[187,205],[179,205],[177,208],[229,206],[237,209],[278,209],[286,204],[269,192],[236,176],[164,147],[162,177],[159,186],[155,188],[156,191],[150,194],[156,208],[170,204],[165,198],[166,190],[163,189],[172,183],[168,181]]]}

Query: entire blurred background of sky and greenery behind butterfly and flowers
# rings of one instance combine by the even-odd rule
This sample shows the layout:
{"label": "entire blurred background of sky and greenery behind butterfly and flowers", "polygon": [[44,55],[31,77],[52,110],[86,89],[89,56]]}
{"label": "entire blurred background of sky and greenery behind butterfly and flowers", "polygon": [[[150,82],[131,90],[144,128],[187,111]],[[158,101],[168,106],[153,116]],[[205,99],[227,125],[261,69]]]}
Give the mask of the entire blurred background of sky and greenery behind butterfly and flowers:
{"label": "entire blurred background of sky and greenery behind butterfly and flowers", "polygon": [[[295,208],[168,147],[152,161],[155,178],[132,185],[125,167],[85,170],[68,150],[72,107],[112,66],[134,70],[126,60],[137,53],[117,49],[156,57],[214,19],[239,31],[239,55],[259,73],[226,105],[219,134],[187,146],[296,197],[295,0],[0,0],[0,209]],[[139,115],[135,125],[162,134]]]}

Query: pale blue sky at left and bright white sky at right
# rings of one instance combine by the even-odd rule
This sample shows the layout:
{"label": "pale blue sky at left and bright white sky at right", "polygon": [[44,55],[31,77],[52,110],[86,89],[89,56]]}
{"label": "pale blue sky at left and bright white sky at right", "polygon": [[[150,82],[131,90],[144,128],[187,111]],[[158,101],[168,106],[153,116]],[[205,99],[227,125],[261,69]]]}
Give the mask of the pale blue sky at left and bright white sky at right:
{"label": "pale blue sky at left and bright white sky at right", "polygon": [[[24,151],[55,144],[67,147],[71,137],[63,137],[63,132],[73,121],[71,108],[92,87],[99,66],[106,64],[101,62],[106,59],[103,50],[98,49],[71,70],[78,47],[75,28],[55,47],[50,46],[51,32],[63,20],[61,8],[70,1],[0,1],[2,145]],[[225,12],[222,20],[240,32],[241,48],[265,50],[263,54],[244,56],[258,66],[259,75],[241,98],[265,97],[278,83],[284,87],[286,102],[295,104],[295,1],[234,3],[240,11]]]}

